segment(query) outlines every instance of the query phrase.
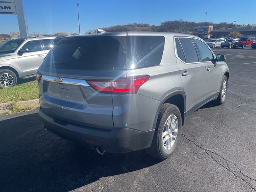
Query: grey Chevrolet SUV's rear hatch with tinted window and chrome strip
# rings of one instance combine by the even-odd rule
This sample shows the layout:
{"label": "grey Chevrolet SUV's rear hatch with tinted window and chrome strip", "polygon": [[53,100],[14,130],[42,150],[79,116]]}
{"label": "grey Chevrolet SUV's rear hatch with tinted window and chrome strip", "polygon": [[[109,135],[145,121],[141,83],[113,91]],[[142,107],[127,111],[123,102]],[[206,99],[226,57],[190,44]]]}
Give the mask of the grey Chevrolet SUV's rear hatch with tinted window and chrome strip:
{"label": "grey Chevrolet SUV's rear hatch with tinted window and chrome strip", "polygon": [[[56,43],[38,68],[41,108],[62,124],[113,129],[112,94],[103,87],[108,80],[126,78],[126,34],[75,36]],[[92,87],[95,80],[97,88]]]}

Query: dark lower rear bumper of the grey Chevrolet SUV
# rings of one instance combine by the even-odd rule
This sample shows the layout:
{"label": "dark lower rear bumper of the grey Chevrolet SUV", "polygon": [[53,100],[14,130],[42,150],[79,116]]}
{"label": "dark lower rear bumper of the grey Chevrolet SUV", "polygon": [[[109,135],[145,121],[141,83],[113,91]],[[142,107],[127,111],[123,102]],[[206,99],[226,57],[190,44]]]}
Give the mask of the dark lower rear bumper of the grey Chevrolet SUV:
{"label": "dark lower rear bumper of the grey Chevrolet SUV", "polygon": [[69,123],[44,112],[38,112],[42,123],[54,134],[82,146],[99,146],[110,153],[125,153],[150,147],[154,130],[141,132],[130,128],[103,130]]}

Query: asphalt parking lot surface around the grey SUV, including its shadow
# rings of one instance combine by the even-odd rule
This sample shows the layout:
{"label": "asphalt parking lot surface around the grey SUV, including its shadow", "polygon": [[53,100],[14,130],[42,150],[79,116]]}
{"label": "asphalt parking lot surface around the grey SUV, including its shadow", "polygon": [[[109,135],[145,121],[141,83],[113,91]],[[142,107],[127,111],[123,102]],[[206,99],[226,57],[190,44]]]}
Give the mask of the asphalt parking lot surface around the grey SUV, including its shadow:
{"label": "asphalt parking lot surface around the grey SUV, including its shadow", "polygon": [[256,191],[256,50],[214,48],[230,68],[222,106],[182,127],[176,152],[100,156],[44,130],[37,111],[0,116],[0,191]]}

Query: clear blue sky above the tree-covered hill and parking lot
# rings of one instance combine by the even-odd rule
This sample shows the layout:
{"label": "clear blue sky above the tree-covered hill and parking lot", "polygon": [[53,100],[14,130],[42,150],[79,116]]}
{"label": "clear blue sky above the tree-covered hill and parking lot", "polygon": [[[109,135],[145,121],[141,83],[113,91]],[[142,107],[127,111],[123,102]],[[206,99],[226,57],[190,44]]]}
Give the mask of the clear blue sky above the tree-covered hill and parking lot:
{"label": "clear blue sky above the tree-covered hill and parking lot", "polygon": [[[159,25],[166,20],[233,22],[255,24],[256,12],[241,14],[234,0],[23,0],[29,34],[33,32],[78,33],[79,3],[81,33],[98,27],[128,23]],[[248,4],[244,4],[247,6]],[[242,7],[244,7],[242,6]],[[223,7],[223,8],[221,8]],[[228,10],[224,10],[228,7]],[[256,1],[250,1],[256,7]],[[0,15],[0,33],[19,31],[16,15]]]}

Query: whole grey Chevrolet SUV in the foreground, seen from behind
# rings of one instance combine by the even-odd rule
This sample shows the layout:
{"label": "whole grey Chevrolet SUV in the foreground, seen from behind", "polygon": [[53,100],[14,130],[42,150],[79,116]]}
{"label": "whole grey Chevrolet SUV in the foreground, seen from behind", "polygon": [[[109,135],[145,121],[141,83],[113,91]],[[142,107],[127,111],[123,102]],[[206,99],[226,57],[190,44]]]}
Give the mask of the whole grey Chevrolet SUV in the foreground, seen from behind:
{"label": "whole grey Chevrolet SUV in the foreground, seen from behind", "polygon": [[45,128],[83,146],[160,159],[189,114],[226,100],[229,69],[200,38],[165,32],[67,37],[38,68]]}

